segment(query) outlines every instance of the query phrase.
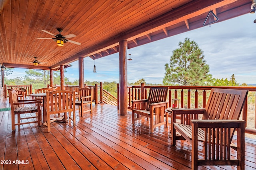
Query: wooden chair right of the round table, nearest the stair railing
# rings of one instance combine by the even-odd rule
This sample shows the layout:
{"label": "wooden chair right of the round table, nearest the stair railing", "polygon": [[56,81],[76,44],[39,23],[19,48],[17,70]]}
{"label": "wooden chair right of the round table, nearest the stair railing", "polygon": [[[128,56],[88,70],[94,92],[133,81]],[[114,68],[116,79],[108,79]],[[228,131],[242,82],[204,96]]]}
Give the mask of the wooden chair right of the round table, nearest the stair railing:
{"label": "wooden chair right of the round table, nearest the stair railing", "polygon": [[[90,104],[90,109],[84,111],[84,106]],[[84,112],[92,113],[92,89],[90,88],[80,88],[78,100],[76,100],[76,105],[79,106],[79,112],[81,117]]]}

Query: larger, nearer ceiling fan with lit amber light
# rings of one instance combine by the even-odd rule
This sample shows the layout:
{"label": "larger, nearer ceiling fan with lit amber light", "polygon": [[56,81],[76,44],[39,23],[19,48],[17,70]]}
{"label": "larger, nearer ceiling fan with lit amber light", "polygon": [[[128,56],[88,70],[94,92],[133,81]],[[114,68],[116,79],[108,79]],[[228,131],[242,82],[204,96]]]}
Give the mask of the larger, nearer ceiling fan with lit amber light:
{"label": "larger, nearer ceiling fan with lit amber light", "polygon": [[73,43],[73,44],[76,44],[76,45],[81,45],[81,43],[78,43],[76,41],[72,41],[72,40],[67,39],[67,38],[76,37],[76,35],[74,35],[74,34],[61,35],[60,33],[62,32],[62,29],[57,28],[57,30],[59,31],[59,34],[54,35],[53,33],[50,33],[46,30],[41,29],[41,31],[44,31],[45,33],[48,33],[48,34],[54,36],[54,38],[37,38],[37,39],[53,39],[54,41],[57,42],[58,46],[64,46],[64,43],[67,43],[67,42],[70,42],[70,43]]}

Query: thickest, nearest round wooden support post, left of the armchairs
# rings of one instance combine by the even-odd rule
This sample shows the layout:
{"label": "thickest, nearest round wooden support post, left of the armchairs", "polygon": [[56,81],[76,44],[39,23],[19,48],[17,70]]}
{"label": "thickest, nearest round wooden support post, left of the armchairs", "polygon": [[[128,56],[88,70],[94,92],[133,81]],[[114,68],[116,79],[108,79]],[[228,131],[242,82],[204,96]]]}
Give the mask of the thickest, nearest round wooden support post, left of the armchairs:
{"label": "thickest, nearest round wooden support post, left of the armchairs", "polygon": [[119,110],[120,115],[127,115],[128,89],[127,89],[127,40],[119,42]]}

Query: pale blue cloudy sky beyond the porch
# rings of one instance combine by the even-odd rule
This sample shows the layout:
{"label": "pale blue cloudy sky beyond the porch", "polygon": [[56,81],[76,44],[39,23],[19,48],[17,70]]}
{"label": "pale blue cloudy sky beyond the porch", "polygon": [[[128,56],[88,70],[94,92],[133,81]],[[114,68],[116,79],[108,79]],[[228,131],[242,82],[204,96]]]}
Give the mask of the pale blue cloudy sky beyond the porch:
{"label": "pale blue cloudy sky beyond the porch", "polygon": [[[245,14],[231,20],[214,23],[186,33],[128,49],[132,61],[128,61],[128,82],[141,78],[146,83],[162,83],[164,64],[169,63],[172,51],[186,37],[198,43],[204,51],[210,74],[214,78],[228,78],[234,74],[240,84],[256,84],[255,30],[256,14]],[[78,61],[71,63],[65,76],[70,81],[78,79]],[[93,73],[94,61],[84,58],[84,79],[88,81],[119,82],[119,54],[95,60],[97,72]],[[8,78],[23,77],[25,69],[15,68]]]}

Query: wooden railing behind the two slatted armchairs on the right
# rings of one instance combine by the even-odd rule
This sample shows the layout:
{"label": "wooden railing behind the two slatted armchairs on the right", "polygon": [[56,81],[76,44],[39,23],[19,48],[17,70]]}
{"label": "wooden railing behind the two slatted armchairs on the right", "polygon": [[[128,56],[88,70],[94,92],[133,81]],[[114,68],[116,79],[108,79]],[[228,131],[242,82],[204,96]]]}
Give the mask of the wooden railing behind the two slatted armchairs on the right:
{"label": "wooden railing behind the two slatted armchairs on the right", "polygon": [[[132,108],[132,100],[145,99],[148,97],[148,90],[152,86],[128,86],[128,109]],[[172,106],[172,99],[179,99],[179,107],[184,108],[205,108],[210,90],[212,88],[248,90],[248,96],[242,110],[240,119],[246,120],[246,133],[256,135],[256,87],[251,86],[168,86],[169,107]],[[119,90],[118,90],[119,92]],[[119,105],[119,104],[118,104]],[[119,106],[118,106],[119,108]],[[250,109],[248,109],[250,108]]]}

